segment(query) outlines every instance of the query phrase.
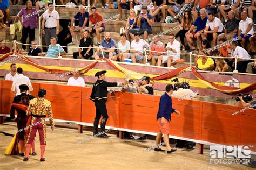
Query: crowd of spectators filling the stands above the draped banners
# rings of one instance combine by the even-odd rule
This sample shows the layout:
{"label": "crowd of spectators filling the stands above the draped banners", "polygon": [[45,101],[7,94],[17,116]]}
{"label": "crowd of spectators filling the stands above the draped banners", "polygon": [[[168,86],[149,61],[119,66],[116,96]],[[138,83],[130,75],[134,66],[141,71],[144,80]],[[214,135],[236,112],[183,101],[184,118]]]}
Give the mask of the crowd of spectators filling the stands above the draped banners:
{"label": "crowd of spectators filling the stands above the draped banners", "polygon": [[[120,33],[120,41],[116,42],[111,38],[110,32],[105,32],[106,23],[103,15],[97,12],[97,1],[90,1],[92,6],[90,6],[90,14],[83,6],[89,5],[86,4],[87,1],[61,1],[62,5],[82,4],[76,15],[71,18],[70,24],[63,28],[65,36],[59,36],[59,13],[53,9],[52,2],[26,1],[24,2],[26,8],[18,12],[14,23],[10,25],[10,39],[21,38],[22,51],[18,47],[16,51],[25,52],[26,45],[24,44],[29,36],[31,47],[28,55],[42,56],[43,53],[39,51],[40,48],[37,47],[35,41],[35,28],[39,18],[39,13],[36,11],[48,6],[43,13],[41,32],[44,35],[45,44],[49,45],[45,56],[60,57],[66,54],[67,49],[62,45],[68,45],[72,41],[71,45],[79,43],[78,52],[73,53],[75,59],[99,59],[104,56],[114,61],[150,62],[151,65],[166,65],[175,69],[173,64],[180,60],[180,53],[193,51],[199,54],[199,58],[194,60],[197,69],[232,72],[236,65],[238,72],[254,72],[255,62],[252,59],[256,54],[253,22],[253,17],[255,17],[253,11],[256,10],[255,0],[231,2],[210,0],[208,4],[204,2],[204,6],[202,2],[203,0],[118,1],[120,15],[116,20],[124,19],[122,9],[129,10],[130,13],[129,17],[125,18],[126,25],[123,33]],[[11,4],[16,3],[23,2],[14,1]],[[36,8],[32,7],[33,4]],[[0,19],[2,19],[0,26],[4,24],[9,26],[9,1],[3,0],[0,7]],[[111,8],[110,1],[104,2],[102,8]],[[166,35],[169,36],[169,42],[165,44],[164,38],[153,31],[153,23],[164,23],[167,15],[173,18],[173,22],[181,25],[179,29],[174,30],[176,34],[172,32]],[[78,20],[78,26],[75,26],[76,20]],[[105,32],[104,40],[101,39],[102,32]],[[96,37],[96,41],[93,41],[93,36]],[[59,37],[62,40],[59,40],[57,44]],[[4,42],[1,42],[1,46],[1,53],[4,54]],[[95,50],[93,47],[98,48]],[[148,50],[146,53],[145,48]],[[200,55],[205,56],[200,57]],[[214,56],[222,56],[223,59],[217,59]],[[238,59],[225,59],[231,56],[238,56]]]}

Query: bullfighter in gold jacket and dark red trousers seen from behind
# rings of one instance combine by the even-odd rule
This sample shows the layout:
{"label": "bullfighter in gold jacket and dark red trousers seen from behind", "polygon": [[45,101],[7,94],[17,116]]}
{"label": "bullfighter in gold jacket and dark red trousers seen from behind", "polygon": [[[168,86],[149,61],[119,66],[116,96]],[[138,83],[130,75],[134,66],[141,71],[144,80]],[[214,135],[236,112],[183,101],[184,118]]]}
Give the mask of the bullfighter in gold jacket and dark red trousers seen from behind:
{"label": "bullfighter in gold jacket and dark red trousers seen from behind", "polygon": [[32,141],[35,138],[36,132],[39,132],[40,139],[40,150],[41,150],[41,159],[40,161],[45,161],[44,151],[46,146],[46,115],[48,115],[51,128],[54,129],[54,121],[51,110],[51,102],[46,100],[44,96],[46,95],[45,89],[39,89],[38,98],[34,98],[29,102],[28,110],[26,110],[26,114],[28,116],[32,116],[31,126],[28,136],[28,142],[26,143],[26,157],[23,159],[24,161],[29,160],[29,151],[31,148]]}

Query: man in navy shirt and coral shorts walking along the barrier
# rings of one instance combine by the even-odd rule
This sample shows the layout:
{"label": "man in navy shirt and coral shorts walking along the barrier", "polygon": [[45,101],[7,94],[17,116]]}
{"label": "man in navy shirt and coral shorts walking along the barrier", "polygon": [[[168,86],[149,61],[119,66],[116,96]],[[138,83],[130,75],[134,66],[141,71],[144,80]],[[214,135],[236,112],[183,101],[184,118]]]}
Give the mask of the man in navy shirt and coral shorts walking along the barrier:
{"label": "man in navy shirt and coral shorts walking along the barrier", "polygon": [[169,144],[169,123],[171,121],[171,114],[175,112],[177,115],[180,114],[178,110],[175,110],[172,108],[172,98],[171,94],[173,93],[173,86],[172,84],[168,84],[165,87],[165,93],[161,96],[160,102],[159,102],[159,109],[157,113],[157,122],[159,125],[159,132],[157,133],[157,138],[156,138],[156,145],[157,148],[155,148],[155,151],[162,151],[159,147],[161,137],[164,134],[164,142],[167,147],[167,153],[172,153],[175,152],[176,149],[172,149],[170,144]]}

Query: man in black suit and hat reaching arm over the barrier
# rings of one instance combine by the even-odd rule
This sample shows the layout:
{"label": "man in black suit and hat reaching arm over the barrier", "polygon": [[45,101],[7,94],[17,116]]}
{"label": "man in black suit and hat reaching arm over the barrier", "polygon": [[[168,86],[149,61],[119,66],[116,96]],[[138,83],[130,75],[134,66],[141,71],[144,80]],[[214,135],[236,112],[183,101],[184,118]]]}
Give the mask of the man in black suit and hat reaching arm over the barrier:
{"label": "man in black suit and hat reaching arm over the barrier", "polygon": [[105,73],[106,71],[100,71],[95,74],[96,77],[98,77],[97,81],[92,87],[92,93],[90,96],[90,100],[95,102],[96,107],[96,117],[94,119],[94,130],[93,135],[96,135],[98,133],[98,125],[99,125],[99,119],[102,115],[102,121],[100,122],[100,128],[101,128],[101,134],[100,138],[109,138],[110,136],[107,136],[105,134],[105,126],[106,121],[109,116],[107,115],[107,109],[106,109],[106,101],[107,101],[107,87],[114,87],[114,86],[122,86],[122,83],[110,83],[105,81]]}

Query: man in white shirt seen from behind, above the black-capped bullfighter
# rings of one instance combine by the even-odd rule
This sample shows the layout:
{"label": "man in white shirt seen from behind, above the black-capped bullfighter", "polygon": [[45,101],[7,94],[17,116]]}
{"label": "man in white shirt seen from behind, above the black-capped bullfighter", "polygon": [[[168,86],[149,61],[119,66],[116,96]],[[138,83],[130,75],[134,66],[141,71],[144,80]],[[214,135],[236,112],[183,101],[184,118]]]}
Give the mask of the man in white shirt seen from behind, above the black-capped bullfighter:
{"label": "man in white shirt seen from behind, above the black-capped bullfighter", "polygon": [[21,94],[19,91],[19,85],[21,85],[21,84],[26,84],[26,86],[29,87],[29,91],[30,92],[33,91],[29,77],[24,76],[22,74],[23,70],[21,67],[17,68],[17,72],[18,72],[18,75],[15,77],[14,82],[12,82],[11,91],[14,92],[14,94],[15,94],[15,89],[16,89],[16,96]]}

